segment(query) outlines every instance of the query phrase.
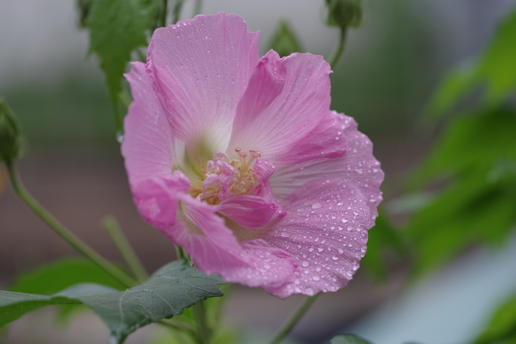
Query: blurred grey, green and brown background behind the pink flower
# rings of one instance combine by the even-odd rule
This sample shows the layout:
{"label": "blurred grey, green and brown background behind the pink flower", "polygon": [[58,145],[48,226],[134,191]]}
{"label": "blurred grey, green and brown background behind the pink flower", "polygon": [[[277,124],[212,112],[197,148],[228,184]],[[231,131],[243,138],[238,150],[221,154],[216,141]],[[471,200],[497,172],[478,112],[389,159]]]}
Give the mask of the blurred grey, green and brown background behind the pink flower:
{"label": "blurred grey, green and brown background behind the pink flower", "polygon": [[[186,0],[180,18],[191,18],[193,6]],[[348,30],[331,75],[332,109],[374,142],[385,201],[363,268],[317,300],[292,340],[327,343],[352,332],[377,344],[491,342],[482,337],[489,319],[516,289],[516,1],[364,0],[362,8],[362,26]],[[328,59],[338,40],[324,0],[203,2],[203,14],[218,11],[260,30],[262,54],[282,21],[300,52]],[[78,18],[71,0],[0,2],[0,95],[30,143],[20,174],[53,215],[122,264],[101,226],[115,216],[152,272],[174,259],[174,248],[133,205],[105,77]],[[63,257],[77,254],[15,197],[0,167],[0,288]],[[266,342],[302,300],[236,285],[230,293],[225,321],[249,343]],[[516,342],[510,314],[504,340]],[[58,318],[38,310],[3,340],[107,338],[87,311]],[[157,343],[161,331],[147,326],[127,342]]]}

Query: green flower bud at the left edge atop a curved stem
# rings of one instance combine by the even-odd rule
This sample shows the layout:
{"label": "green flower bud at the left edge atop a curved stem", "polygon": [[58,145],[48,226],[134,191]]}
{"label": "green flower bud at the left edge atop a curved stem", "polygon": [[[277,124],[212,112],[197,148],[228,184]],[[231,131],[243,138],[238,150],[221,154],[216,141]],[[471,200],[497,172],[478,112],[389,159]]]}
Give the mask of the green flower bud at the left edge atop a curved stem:
{"label": "green flower bud at the left edge atop a curved stem", "polygon": [[0,97],[0,162],[21,158],[25,153],[25,140],[20,122],[14,112]]}

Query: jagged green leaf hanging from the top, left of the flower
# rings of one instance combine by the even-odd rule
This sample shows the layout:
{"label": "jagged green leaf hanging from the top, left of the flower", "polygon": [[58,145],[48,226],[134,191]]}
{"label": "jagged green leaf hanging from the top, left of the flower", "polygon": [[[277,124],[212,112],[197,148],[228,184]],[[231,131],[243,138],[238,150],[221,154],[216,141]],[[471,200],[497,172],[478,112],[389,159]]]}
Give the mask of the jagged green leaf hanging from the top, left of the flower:
{"label": "jagged green leaf hanging from the top, left of the flower", "polygon": [[114,106],[117,128],[122,128],[119,94],[122,74],[131,52],[146,46],[154,28],[160,0],[95,0],[88,12],[90,50],[100,59]]}

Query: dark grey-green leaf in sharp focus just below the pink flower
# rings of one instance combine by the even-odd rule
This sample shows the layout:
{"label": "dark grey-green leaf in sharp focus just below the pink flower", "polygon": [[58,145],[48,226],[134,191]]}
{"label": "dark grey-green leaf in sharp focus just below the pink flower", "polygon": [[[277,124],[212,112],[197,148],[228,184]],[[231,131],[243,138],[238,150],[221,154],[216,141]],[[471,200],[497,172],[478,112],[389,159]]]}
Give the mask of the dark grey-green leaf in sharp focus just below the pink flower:
{"label": "dark grey-green leaf in sharp focus just below the pink flower", "polygon": [[0,326],[46,305],[82,303],[106,324],[110,343],[122,343],[139,327],[179,315],[183,309],[215,296],[222,296],[217,275],[206,276],[185,260],[173,261],[156,271],[142,285],[117,291],[83,283],[53,296],[0,291]]}

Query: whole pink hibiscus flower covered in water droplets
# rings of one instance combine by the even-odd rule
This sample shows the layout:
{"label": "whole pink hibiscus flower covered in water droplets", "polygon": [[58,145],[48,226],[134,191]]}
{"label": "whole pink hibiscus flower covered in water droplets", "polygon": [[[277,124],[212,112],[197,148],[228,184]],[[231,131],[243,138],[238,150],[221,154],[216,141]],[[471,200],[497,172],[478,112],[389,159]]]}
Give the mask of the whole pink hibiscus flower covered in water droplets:
{"label": "whole pink hibiscus flower covered in water droplets", "polygon": [[260,58],[259,35],[224,13],[154,31],[126,74],[134,201],[202,272],[280,298],[335,291],[365,254],[383,172],[330,111],[329,64]]}

